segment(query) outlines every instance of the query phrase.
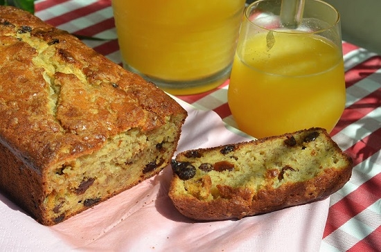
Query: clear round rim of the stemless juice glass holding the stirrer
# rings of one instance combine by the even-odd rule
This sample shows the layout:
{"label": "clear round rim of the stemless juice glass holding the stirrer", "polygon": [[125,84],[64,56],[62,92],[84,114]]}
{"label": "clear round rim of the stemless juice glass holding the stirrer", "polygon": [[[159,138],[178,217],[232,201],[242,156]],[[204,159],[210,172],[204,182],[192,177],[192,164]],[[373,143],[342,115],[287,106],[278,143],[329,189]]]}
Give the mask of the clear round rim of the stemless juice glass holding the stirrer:
{"label": "clear round rim of the stemless juice glass holding the stirrer", "polygon": [[[251,13],[251,10],[253,9],[252,7],[253,6],[257,6],[259,3],[265,2],[265,1],[269,1],[270,2],[270,1],[276,1],[276,0],[258,0],[258,1],[254,1],[253,3],[250,3],[249,6],[247,6],[245,8],[245,12],[244,12],[245,20],[247,22],[249,22],[249,24],[251,24],[253,26],[256,26],[258,28],[261,28],[263,30],[274,31],[276,33],[289,33],[289,32],[287,32],[287,30],[276,30],[276,29],[273,29],[273,28],[266,28],[264,26],[261,26],[260,24],[256,24],[255,21],[250,19],[250,13]],[[326,30],[332,29],[333,27],[335,27],[335,26],[337,26],[339,24],[339,22],[340,22],[340,13],[339,13],[339,11],[333,5],[331,5],[330,3],[326,3],[325,1],[322,1],[322,0],[305,0],[305,1],[314,1],[314,2],[322,3],[325,6],[328,6],[331,10],[333,10],[336,13],[336,16],[337,16],[335,21],[332,24],[329,24],[330,25],[329,27],[323,28],[321,30],[314,30],[314,31],[310,32],[310,34],[322,33],[322,32],[324,32]],[[296,30],[296,29],[292,29],[292,31],[293,31],[293,33],[296,33],[296,34],[298,33],[298,30]],[[300,33],[305,33],[305,31],[301,31],[300,30]]]}

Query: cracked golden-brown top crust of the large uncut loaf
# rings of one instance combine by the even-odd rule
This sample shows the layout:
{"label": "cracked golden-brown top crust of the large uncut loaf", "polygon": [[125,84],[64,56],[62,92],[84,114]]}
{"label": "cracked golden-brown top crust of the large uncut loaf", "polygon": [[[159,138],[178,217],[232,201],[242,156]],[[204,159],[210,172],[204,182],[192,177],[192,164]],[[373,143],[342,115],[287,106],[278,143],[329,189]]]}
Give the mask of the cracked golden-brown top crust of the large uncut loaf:
{"label": "cracked golden-brown top crust of the large uncut loaf", "polygon": [[186,111],[154,84],[28,12],[0,6],[0,143],[32,167],[91,154],[110,136],[149,131],[177,114]]}

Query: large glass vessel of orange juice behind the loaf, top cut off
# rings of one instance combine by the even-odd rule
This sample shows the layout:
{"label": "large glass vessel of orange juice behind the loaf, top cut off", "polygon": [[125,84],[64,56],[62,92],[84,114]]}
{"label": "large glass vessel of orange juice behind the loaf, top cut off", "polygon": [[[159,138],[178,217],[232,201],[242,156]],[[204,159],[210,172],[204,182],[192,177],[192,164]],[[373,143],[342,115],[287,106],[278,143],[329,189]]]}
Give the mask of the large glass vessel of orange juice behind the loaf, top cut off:
{"label": "large glass vessel of orange juice behind the loaf, top cut off", "polygon": [[229,78],[245,0],[112,0],[112,7],[126,69],[174,95]]}

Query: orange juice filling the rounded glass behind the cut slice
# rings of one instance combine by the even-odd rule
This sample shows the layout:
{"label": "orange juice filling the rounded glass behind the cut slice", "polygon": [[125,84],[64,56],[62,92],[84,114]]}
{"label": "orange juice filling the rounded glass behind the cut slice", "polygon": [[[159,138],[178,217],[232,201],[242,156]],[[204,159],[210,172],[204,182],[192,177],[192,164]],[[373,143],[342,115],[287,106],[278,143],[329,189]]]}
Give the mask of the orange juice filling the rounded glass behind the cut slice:
{"label": "orange juice filling the rounded glass behind the cut slice", "polygon": [[238,127],[256,138],[330,132],[346,99],[341,48],[319,35],[269,33],[246,39],[233,63],[228,98]]}

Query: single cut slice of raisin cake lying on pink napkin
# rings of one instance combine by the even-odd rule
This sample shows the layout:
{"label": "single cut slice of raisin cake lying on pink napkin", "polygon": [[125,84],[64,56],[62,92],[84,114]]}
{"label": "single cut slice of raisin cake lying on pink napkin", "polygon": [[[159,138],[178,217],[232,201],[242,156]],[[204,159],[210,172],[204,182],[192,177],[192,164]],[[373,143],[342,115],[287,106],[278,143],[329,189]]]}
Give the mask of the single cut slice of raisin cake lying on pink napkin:
{"label": "single cut slice of raisin cake lying on pink napkin", "polygon": [[321,128],[188,150],[171,165],[170,199],[196,220],[240,219],[324,199],[353,168]]}

